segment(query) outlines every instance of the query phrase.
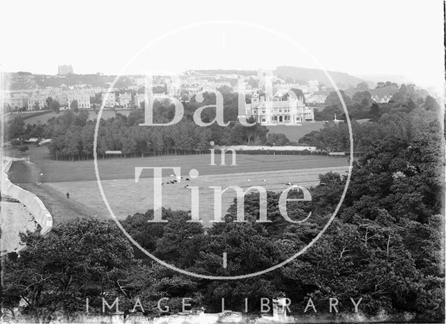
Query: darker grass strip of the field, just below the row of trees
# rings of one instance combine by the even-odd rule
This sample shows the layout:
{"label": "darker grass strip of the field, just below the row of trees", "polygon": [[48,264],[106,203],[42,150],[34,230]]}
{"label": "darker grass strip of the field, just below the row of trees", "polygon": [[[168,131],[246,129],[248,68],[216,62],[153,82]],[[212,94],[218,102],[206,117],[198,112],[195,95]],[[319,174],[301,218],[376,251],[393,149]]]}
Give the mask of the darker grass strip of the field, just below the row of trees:
{"label": "darker grass strip of the field, just below the row of trees", "polygon": [[[6,155],[20,157],[17,149],[7,149]],[[68,181],[91,181],[96,180],[93,160],[89,161],[55,161],[49,159],[47,147],[30,146],[23,156],[30,156],[30,161],[36,165],[40,172],[38,179],[30,179],[29,174],[21,169],[21,162],[13,163],[10,169],[10,179],[17,183],[33,181],[68,182]],[[220,162],[220,155],[215,155],[215,163]],[[183,175],[192,168],[199,170],[200,175],[219,175],[226,173],[243,172],[271,172],[277,170],[303,170],[308,168],[335,167],[347,164],[346,157],[315,156],[315,155],[259,155],[259,154],[237,154],[237,165],[232,166],[231,155],[226,154],[226,165],[211,166],[210,155],[170,155],[151,156],[144,159],[105,159],[98,160],[98,168],[101,179],[134,179],[135,167],[155,166],[180,166]],[[40,177],[40,173],[43,176]],[[163,175],[173,173],[165,170]],[[141,177],[152,177],[149,172],[143,173]]]}

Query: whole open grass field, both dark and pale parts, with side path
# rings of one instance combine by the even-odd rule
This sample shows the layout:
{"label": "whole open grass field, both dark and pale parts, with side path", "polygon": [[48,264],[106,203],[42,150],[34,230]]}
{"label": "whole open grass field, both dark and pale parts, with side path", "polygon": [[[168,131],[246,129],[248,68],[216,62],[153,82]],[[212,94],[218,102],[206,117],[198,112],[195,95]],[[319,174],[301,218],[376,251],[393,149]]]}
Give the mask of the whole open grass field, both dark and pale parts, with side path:
{"label": "whole open grass field, both dark and pale parts, with side path", "polygon": [[[11,149],[8,154],[17,155],[13,151]],[[13,163],[10,179],[36,193],[54,216],[55,223],[79,216],[110,218],[95,179],[93,161],[52,161],[45,147],[31,147],[26,153],[29,153],[31,162]],[[162,202],[163,206],[172,209],[190,210],[190,189],[185,185],[199,186],[199,214],[203,220],[213,218],[213,190],[209,186],[240,186],[244,190],[250,186],[263,186],[267,190],[282,191],[287,182],[312,186],[318,183],[320,174],[330,171],[344,174],[347,170],[345,157],[238,154],[236,166],[211,166],[209,159],[208,154],[106,159],[99,161],[98,166],[105,195],[118,218],[153,208],[153,174],[145,170],[141,175],[144,179],[135,183],[135,167],[180,166],[184,178],[192,168],[199,170],[197,179],[164,184]],[[219,161],[217,156],[216,161]],[[226,162],[230,161],[227,155]],[[170,180],[172,173],[172,170],[163,172],[163,181]],[[36,184],[39,181],[42,184]],[[66,197],[67,192],[70,199]],[[224,194],[223,214],[234,197],[233,192]]]}

